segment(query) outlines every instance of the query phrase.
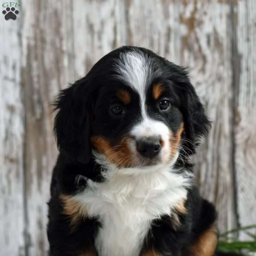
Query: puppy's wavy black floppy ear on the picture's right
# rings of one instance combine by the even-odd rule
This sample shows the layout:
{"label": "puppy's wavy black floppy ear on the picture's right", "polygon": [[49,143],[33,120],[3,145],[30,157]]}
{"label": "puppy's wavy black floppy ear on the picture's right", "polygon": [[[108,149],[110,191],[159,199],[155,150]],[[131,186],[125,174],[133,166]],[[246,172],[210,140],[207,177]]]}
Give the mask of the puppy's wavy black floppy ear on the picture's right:
{"label": "puppy's wavy black floppy ear on the picture's right", "polygon": [[186,146],[195,153],[195,147],[200,144],[200,139],[207,136],[211,122],[207,118],[204,106],[189,79],[186,86],[183,84],[183,95],[181,97],[185,134],[186,138],[191,141],[191,143],[187,142]]}

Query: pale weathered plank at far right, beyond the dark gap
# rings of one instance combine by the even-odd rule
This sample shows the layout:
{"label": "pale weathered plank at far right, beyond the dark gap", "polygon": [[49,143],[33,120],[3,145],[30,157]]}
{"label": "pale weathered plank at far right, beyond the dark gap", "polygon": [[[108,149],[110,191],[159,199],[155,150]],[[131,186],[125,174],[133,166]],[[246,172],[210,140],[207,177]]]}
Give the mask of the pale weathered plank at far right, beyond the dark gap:
{"label": "pale weathered plank at far right, beyond the dark gap", "polygon": [[[256,2],[240,0],[234,6],[239,85],[236,98],[236,175],[239,223],[256,223]],[[256,235],[256,230],[251,230]],[[245,234],[242,239],[247,239]]]}

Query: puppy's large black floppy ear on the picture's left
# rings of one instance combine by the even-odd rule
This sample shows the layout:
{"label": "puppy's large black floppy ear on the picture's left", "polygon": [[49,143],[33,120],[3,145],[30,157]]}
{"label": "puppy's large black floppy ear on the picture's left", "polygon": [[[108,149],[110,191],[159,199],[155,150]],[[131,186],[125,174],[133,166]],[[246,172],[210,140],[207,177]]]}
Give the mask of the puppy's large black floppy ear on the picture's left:
{"label": "puppy's large black floppy ear on the picture's left", "polygon": [[[90,102],[81,80],[61,90],[55,101],[54,131],[60,152],[80,163],[88,163],[90,145]],[[86,86],[83,86],[86,87]]]}

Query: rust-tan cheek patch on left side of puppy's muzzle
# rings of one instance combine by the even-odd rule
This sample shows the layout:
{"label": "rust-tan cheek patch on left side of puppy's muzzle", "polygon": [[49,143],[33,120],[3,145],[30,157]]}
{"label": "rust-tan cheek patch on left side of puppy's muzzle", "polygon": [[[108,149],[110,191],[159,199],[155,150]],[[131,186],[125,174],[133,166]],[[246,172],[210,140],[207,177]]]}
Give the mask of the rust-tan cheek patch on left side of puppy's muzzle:
{"label": "rust-tan cheek patch on left side of puppy's muzzle", "polygon": [[125,137],[119,145],[114,147],[108,139],[101,136],[91,137],[91,142],[100,154],[105,154],[110,163],[115,163],[119,167],[132,167],[133,156],[128,148],[130,139],[130,137]]}

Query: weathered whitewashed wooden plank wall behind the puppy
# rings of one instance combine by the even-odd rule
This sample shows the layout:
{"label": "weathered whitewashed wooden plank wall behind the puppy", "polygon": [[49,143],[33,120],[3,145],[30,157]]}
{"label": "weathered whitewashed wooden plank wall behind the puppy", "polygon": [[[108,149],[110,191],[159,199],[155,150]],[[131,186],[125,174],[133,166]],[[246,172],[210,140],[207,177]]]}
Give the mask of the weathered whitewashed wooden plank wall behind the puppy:
{"label": "weathered whitewashed wooden plank wall behind the puppy", "polygon": [[47,255],[49,103],[126,44],[190,67],[214,121],[195,157],[201,193],[221,231],[256,223],[255,0],[23,0],[19,10],[0,16],[0,256]]}

